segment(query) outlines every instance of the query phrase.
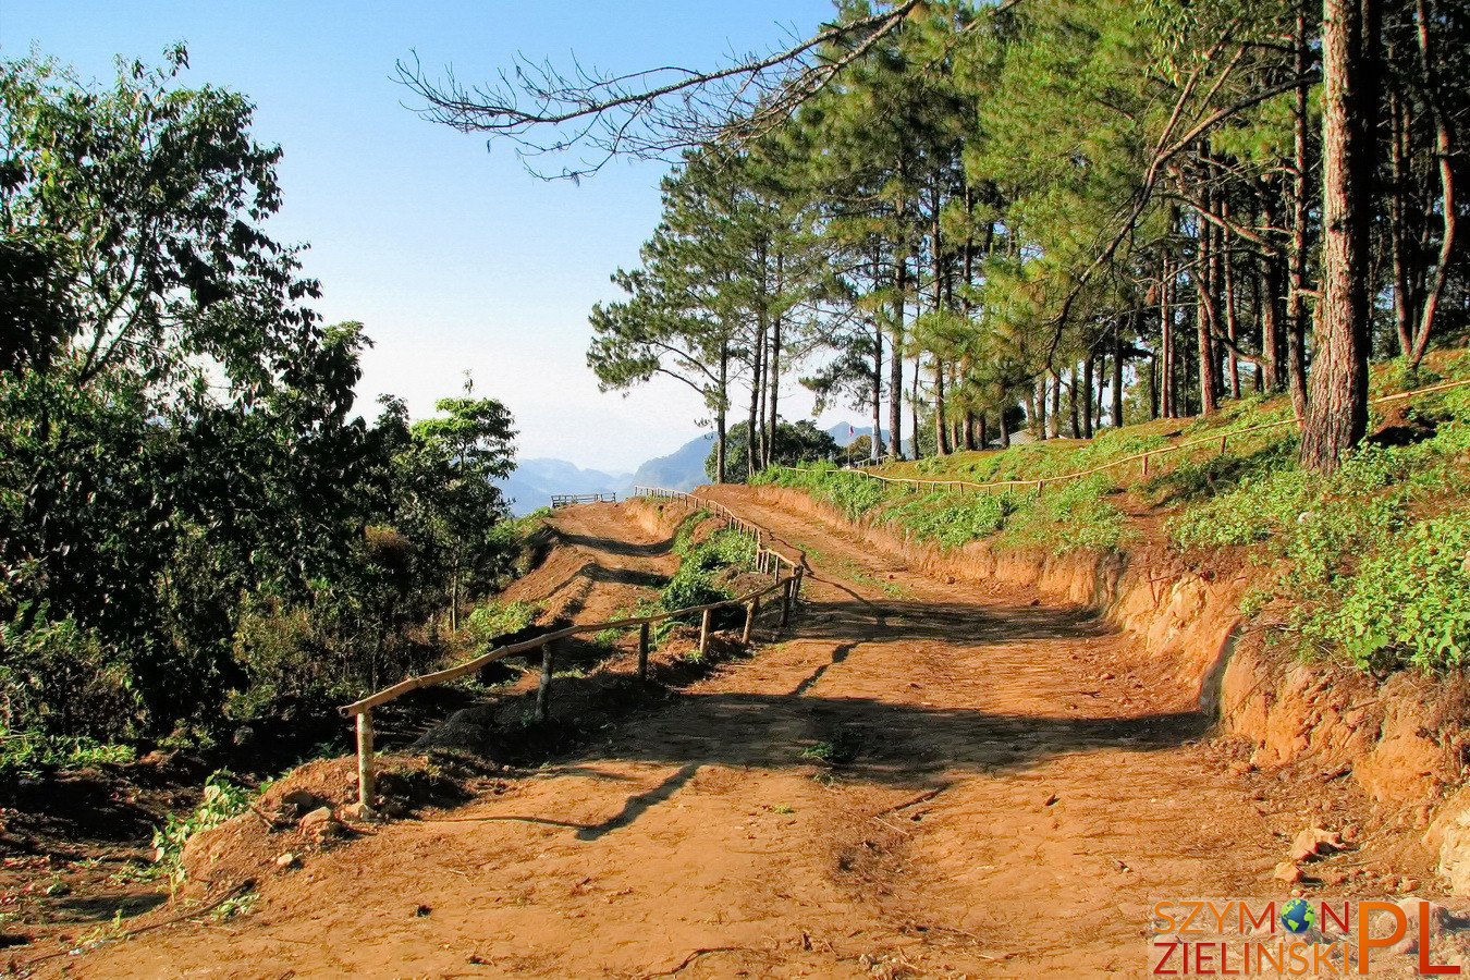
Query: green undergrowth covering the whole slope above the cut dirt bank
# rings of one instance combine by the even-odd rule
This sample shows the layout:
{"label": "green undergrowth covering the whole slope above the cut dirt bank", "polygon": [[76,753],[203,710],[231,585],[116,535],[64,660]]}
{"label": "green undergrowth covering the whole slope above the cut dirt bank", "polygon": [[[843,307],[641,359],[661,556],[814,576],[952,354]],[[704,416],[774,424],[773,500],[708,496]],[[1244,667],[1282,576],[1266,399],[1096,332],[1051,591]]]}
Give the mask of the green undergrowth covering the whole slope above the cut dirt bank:
{"label": "green undergrowth covering the whole slope above the cut dirt bank", "polygon": [[[1376,366],[1374,398],[1470,379],[1470,354],[1435,354],[1410,375]],[[1227,403],[1205,419],[1160,419],[1097,438],[1048,439],[956,453],[875,470],[888,478],[1055,479],[1030,488],[895,485],[817,464],[773,469],[757,482],[789,486],[851,520],[904,530],[942,548],[986,541],[1064,552],[1126,547],[1123,510],[1167,516],[1169,547],[1208,563],[1232,548],[1257,564],[1245,611],[1302,655],[1341,657],[1376,673],[1451,670],[1470,660],[1470,386],[1374,406],[1372,438],[1330,478],[1297,463],[1283,397]],[[1273,426],[1261,429],[1260,426]],[[1223,439],[1223,445],[1222,445]],[[1142,472],[1141,453],[1170,448]],[[1267,616],[1267,610],[1270,614]]]}

